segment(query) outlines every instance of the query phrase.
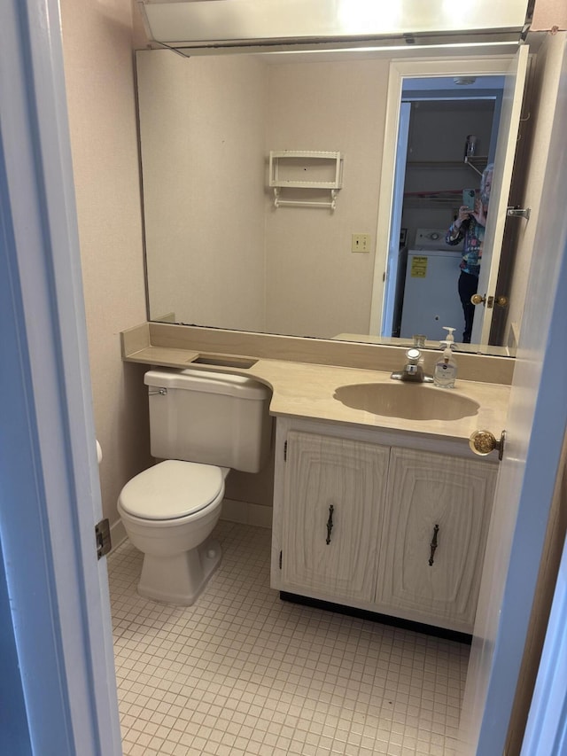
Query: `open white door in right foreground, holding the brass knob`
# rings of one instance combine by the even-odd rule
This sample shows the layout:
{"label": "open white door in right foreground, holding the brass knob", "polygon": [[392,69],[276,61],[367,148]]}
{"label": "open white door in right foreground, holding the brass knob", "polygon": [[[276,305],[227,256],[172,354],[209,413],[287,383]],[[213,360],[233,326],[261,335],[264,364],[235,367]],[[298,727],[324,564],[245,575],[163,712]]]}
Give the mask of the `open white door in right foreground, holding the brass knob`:
{"label": "open white door in right foreground, holding the brass knob", "polygon": [[[567,54],[555,106],[509,404],[507,442],[486,545],[460,756],[502,753],[524,651],[541,549],[567,428]],[[493,429],[500,432],[501,429]],[[550,627],[547,642],[561,639]],[[554,635],[555,634],[555,635]],[[563,686],[564,680],[556,681]],[[561,687],[560,687],[561,690]],[[563,696],[563,690],[561,690]],[[564,713],[563,713],[564,716]],[[539,721],[537,740],[554,723]],[[543,740],[543,738],[540,738]],[[554,752],[559,753],[559,752]]]}

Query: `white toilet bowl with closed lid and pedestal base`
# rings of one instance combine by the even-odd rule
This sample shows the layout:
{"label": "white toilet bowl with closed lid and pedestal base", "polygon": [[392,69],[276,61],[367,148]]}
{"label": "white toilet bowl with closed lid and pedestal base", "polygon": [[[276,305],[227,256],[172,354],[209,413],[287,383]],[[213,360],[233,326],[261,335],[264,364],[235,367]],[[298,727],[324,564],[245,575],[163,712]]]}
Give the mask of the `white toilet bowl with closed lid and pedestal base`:
{"label": "white toilet bowl with closed lid and pedestal base", "polygon": [[138,593],[194,604],[221,562],[209,538],[221,516],[229,469],[166,460],[140,472],[120,492],[118,510],[130,542],[144,552]]}

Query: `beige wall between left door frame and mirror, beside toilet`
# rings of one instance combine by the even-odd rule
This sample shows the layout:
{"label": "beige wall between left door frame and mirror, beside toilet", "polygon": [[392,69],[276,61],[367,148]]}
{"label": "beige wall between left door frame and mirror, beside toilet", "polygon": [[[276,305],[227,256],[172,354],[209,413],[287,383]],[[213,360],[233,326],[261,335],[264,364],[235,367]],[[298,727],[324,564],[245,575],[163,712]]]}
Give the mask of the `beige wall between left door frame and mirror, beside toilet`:
{"label": "beige wall between left door frame and mirror, beside toilet", "polygon": [[82,278],[105,517],[149,463],[143,366],[120,331],[145,320],[130,0],[61,0]]}

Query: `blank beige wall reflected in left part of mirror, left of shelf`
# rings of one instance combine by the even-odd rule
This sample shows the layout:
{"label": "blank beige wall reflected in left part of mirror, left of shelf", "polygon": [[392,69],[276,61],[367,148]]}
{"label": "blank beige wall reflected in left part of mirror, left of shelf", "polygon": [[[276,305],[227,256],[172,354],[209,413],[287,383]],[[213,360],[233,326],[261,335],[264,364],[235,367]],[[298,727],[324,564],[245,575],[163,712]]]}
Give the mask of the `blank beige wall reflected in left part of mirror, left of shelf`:
{"label": "blank beige wall reflected in left part of mirror, left of shelf", "polygon": [[266,66],[136,55],[150,314],[264,331]]}

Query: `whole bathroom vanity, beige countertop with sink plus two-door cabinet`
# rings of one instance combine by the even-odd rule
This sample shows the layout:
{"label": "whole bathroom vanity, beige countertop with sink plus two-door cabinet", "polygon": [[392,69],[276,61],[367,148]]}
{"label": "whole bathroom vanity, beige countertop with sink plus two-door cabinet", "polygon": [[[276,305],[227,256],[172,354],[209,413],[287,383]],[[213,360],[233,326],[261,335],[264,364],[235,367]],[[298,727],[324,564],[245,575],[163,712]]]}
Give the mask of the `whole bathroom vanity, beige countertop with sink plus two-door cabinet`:
{"label": "whole bathroom vanity, beige countertop with sink plus two-door cabinet", "polygon": [[[352,367],[316,362],[343,359],[335,344],[325,355],[299,339],[304,354],[282,359],[298,342],[266,339],[150,323],[125,331],[122,348],[128,362],[270,386],[272,588],[472,633],[499,464],[469,439],[504,429],[510,361],[461,354],[456,388],[408,386],[391,379],[395,347],[351,347]],[[425,370],[438,355],[425,354]]]}

